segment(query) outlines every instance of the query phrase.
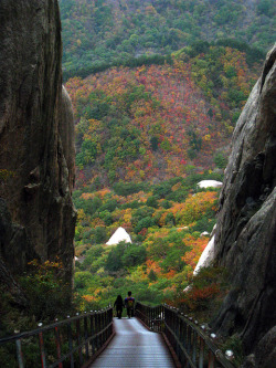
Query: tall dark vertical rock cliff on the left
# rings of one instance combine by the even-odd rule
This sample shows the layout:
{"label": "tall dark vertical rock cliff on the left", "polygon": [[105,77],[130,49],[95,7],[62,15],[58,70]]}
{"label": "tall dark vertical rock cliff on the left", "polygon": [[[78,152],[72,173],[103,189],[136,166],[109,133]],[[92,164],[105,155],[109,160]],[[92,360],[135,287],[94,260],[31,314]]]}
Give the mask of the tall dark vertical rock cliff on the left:
{"label": "tall dark vertical rock cliff on the left", "polygon": [[59,255],[71,280],[74,122],[61,57],[57,0],[0,2],[0,255],[12,273]]}

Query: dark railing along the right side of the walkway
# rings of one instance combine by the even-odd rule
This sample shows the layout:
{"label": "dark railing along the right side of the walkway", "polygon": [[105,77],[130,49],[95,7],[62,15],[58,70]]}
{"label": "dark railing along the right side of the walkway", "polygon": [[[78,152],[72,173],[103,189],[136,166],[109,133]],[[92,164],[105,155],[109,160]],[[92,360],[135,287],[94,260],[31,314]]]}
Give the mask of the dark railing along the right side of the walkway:
{"label": "dark railing along the right side of the walkway", "polygon": [[[234,368],[205,326],[168,305],[147,306],[136,303],[136,317],[152,332],[163,333],[183,368]],[[231,357],[232,358],[232,357]]]}

